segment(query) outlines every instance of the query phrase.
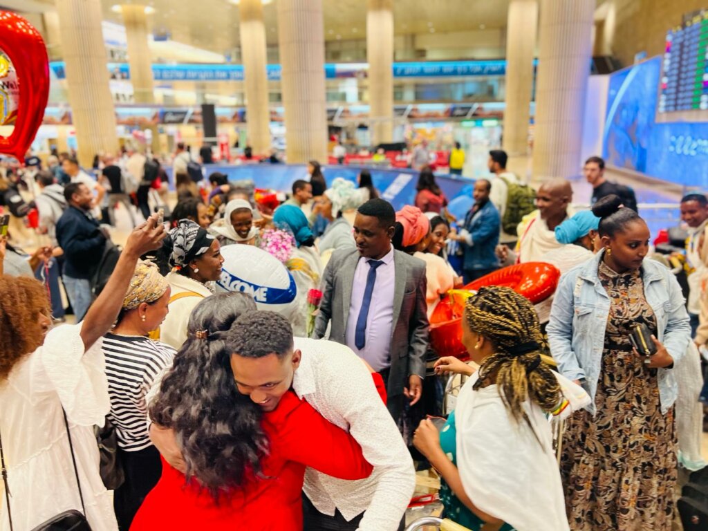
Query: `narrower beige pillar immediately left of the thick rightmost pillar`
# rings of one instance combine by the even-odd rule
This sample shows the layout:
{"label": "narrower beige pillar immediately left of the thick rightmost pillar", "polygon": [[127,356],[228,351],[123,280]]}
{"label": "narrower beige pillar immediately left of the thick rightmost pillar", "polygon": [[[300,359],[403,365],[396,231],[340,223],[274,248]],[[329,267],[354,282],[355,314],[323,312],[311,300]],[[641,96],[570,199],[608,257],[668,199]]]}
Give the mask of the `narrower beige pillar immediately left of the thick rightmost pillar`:
{"label": "narrower beige pillar immediately left of the thick rightmost pillar", "polygon": [[533,59],[538,25],[537,0],[511,0],[506,30],[506,109],[503,149],[509,156],[507,168],[525,176]]}

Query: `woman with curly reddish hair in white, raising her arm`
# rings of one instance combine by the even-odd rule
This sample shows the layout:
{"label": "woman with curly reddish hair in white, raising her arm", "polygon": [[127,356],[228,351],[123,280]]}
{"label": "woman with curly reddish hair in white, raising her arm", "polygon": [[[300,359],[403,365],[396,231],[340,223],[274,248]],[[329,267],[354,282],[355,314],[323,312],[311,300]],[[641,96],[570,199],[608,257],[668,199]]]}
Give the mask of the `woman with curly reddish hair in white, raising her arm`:
{"label": "woman with curly reddish hair in white, raising her arm", "polygon": [[164,234],[156,215],[130,234],[80,324],[50,331],[45,287],[0,277],[0,437],[12,495],[0,499],[0,529],[34,529],[72,509],[94,531],[118,529],[93,434],[110,409],[101,336],[118,316],[122,296],[116,294],[127,291],[139,256],[156,249]]}

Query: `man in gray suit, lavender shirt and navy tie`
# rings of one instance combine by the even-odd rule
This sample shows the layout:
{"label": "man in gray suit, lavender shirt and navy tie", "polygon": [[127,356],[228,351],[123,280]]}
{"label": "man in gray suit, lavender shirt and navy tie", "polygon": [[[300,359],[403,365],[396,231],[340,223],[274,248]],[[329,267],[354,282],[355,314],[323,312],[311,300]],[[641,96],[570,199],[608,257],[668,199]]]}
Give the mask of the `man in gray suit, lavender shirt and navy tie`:
{"label": "man in gray suit, lavender shirt and navy tie", "polygon": [[428,315],[426,265],[396,251],[396,212],[372,199],[354,219],[356,249],[334,251],[324,272],[315,338],[343,343],[382,375],[388,409],[399,421],[404,397],[421,399],[426,374]]}

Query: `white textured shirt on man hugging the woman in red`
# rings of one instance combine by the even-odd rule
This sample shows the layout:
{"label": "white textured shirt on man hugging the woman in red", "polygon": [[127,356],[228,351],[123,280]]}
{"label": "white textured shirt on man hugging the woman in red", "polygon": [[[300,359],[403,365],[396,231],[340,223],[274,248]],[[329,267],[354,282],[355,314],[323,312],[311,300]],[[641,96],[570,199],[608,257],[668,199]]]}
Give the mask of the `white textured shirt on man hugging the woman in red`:
{"label": "white textured shirt on man hugging the woman in red", "polygon": [[308,468],[305,494],[323,514],[333,515],[338,509],[352,520],[365,512],[360,531],[397,530],[415,490],[416,472],[370,372],[341,343],[295,338],[295,348],[302,351],[292,382],[295,393],[328,421],[348,430],[374,467],[367,479],[356,481]]}

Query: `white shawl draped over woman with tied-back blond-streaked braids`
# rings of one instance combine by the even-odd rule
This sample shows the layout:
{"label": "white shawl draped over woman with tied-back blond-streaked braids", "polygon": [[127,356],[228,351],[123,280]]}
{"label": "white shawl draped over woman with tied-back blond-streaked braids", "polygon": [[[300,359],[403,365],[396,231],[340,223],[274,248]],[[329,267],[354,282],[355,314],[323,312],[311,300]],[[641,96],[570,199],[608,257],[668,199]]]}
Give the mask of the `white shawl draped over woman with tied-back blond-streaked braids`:
{"label": "white shawl draped over woman with tied-back blond-streaked braids", "polygon": [[[569,531],[551,426],[543,411],[525,402],[531,430],[525,421],[511,418],[496,385],[472,389],[477,379],[475,373],[465,382],[455,411],[457,467],[467,496],[518,531]],[[561,388],[571,404],[566,409],[575,409],[583,404],[582,389],[564,380]]]}

